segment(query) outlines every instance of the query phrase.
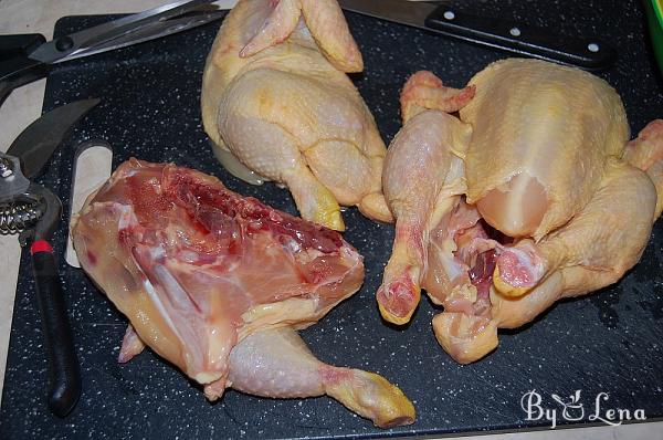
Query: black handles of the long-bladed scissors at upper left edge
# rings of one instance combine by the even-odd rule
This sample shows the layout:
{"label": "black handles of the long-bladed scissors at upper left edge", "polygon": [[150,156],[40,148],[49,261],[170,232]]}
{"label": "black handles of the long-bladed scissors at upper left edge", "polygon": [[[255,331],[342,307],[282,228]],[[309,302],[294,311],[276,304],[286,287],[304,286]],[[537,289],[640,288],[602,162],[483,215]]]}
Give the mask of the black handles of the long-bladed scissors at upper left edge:
{"label": "black handles of the long-bladed scissors at upper left edge", "polygon": [[14,88],[46,75],[46,65],[28,56],[45,42],[39,33],[0,35],[0,105]]}

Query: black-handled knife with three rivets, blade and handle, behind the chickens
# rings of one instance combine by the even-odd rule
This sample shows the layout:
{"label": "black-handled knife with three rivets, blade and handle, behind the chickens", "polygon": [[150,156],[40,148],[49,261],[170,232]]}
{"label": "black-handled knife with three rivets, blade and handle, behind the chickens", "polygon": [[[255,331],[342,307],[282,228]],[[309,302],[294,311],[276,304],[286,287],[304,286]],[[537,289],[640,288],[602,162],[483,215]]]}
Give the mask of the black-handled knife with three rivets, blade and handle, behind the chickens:
{"label": "black-handled knife with three rivets, blade and handle, behind the chickens", "polygon": [[443,2],[339,0],[338,3],[347,11],[588,71],[606,70],[617,60],[617,51],[597,39],[561,36],[524,23],[472,15]]}

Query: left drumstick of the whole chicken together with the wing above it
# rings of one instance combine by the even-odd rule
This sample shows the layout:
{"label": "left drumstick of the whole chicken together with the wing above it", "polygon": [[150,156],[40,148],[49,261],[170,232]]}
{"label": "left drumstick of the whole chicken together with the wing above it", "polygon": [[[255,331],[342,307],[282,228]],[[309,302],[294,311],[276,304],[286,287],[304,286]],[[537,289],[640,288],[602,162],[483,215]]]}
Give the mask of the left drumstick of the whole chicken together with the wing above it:
{"label": "left drumstick of the whole chicken together with the wing above it", "polygon": [[439,223],[464,192],[459,156],[470,140],[470,126],[425,106],[454,111],[472,95],[472,88],[443,86],[430,72],[410,77],[401,94],[404,126],[389,147],[382,177],[385,197],[397,219],[396,240],[377,293],[380,313],[391,323],[410,321],[427,269],[430,223]]}

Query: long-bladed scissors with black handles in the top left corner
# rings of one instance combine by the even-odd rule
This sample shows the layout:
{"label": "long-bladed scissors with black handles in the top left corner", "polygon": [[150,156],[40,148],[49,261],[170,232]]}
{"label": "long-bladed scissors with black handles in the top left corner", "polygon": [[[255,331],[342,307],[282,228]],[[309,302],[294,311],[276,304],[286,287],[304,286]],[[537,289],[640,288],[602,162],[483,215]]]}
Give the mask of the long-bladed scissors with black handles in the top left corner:
{"label": "long-bladed scissors with black handles in the top left corner", "polygon": [[46,42],[41,34],[0,35],[0,104],[18,86],[46,75],[49,65],[196,28],[222,18],[213,0],[179,0]]}

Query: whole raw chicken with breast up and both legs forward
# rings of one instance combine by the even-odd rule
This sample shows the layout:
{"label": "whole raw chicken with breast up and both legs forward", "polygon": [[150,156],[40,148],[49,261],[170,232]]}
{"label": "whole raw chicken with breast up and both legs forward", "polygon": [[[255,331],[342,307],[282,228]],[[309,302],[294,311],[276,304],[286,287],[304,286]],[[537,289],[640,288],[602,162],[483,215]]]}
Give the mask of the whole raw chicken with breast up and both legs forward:
{"label": "whole raw chicken with breast up and both legs forward", "polygon": [[663,121],[628,143],[604,81],[513,59],[462,91],[419,72],[401,107],[383,174],[397,218],[377,293],[387,321],[408,322],[425,289],[444,306],[438,341],[470,363],[497,346],[497,328],[612,284],[640,259],[663,205]]}

